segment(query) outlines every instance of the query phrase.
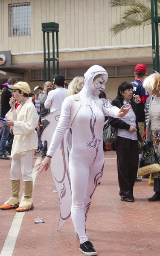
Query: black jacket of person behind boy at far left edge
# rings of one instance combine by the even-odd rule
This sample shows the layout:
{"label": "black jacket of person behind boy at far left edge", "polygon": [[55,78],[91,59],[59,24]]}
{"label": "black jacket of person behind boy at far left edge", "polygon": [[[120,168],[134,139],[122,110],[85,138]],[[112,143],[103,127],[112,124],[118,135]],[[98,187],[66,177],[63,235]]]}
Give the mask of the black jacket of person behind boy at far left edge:
{"label": "black jacket of person behind boy at far left edge", "polygon": [[10,91],[6,88],[1,95],[1,105],[0,105],[0,116],[4,118],[6,113],[10,110],[9,100],[12,97]]}

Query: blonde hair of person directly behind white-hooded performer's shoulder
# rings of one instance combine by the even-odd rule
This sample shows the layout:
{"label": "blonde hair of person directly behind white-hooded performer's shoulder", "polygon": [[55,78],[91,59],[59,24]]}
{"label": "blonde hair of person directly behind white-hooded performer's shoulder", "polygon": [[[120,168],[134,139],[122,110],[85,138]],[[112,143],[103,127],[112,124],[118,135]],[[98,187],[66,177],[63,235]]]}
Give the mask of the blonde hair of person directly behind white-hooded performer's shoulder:
{"label": "blonde hair of person directly behind white-hooded performer's shoulder", "polygon": [[84,84],[84,77],[83,76],[76,76],[68,85],[68,93],[67,96],[77,94],[81,91]]}

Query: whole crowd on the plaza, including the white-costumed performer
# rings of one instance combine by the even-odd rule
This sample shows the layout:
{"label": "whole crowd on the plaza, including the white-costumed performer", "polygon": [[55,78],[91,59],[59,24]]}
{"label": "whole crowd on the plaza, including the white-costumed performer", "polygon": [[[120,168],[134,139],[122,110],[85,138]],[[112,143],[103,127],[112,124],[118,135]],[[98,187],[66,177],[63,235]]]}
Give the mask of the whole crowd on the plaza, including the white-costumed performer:
{"label": "whole crowd on the plaza, including the white-costumed performer", "polygon": [[[90,67],[84,77],[77,76],[68,85],[64,76],[54,75],[44,87],[35,87],[10,78],[3,84],[0,116],[0,159],[11,154],[11,198],[0,209],[23,212],[34,208],[32,200],[32,160],[35,150],[45,157],[38,165],[38,173],[47,170],[67,129],[72,133],[69,156],[72,188],[71,217],[75,234],[80,240],[79,250],[84,255],[97,255],[88,240],[85,221],[96,185],[100,184],[106,151],[102,134],[104,122],[117,129],[115,145],[119,195],[121,201],[134,202],[134,183],[137,177],[139,148],[152,141],[160,160],[160,74],[148,77],[144,64],[137,64],[135,79],[122,82],[116,98],[111,102],[104,93],[108,73],[98,65]],[[154,96],[149,96],[154,95]],[[50,145],[42,143],[41,131],[49,122],[49,113],[61,108],[61,116]],[[10,135],[9,135],[10,134]],[[77,136],[78,135],[78,136]],[[24,199],[19,203],[20,172],[24,181]],[[148,174],[155,194],[148,201],[160,200],[160,173]],[[96,180],[96,182],[95,182]]]}

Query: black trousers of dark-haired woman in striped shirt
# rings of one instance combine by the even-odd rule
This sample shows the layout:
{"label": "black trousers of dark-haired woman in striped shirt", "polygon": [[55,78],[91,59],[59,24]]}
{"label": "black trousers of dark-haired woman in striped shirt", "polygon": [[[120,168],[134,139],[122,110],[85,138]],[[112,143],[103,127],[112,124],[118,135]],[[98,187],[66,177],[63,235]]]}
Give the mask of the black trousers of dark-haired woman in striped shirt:
{"label": "black trousers of dark-haired woman in striped shirt", "polygon": [[117,171],[119,182],[119,195],[125,198],[134,198],[133,188],[137,177],[139,148],[137,140],[130,140],[117,137],[116,155],[117,155]]}

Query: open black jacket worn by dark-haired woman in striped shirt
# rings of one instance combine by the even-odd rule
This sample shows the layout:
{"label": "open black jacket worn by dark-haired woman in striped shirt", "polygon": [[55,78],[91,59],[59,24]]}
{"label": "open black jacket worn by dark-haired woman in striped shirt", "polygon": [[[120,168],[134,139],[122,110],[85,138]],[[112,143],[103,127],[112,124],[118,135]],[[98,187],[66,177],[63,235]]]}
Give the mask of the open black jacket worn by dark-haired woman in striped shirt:
{"label": "open black jacket worn by dark-haired woman in striped shirt", "polygon": [[[114,99],[112,101],[112,105],[116,106],[118,108],[121,108],[123,106],[123,101],[120,101],[119,99]],[[138,141],[142,141],[142,138],[140,136],[139,128],[138,128],[138,122],[144,122],[145,121],[145,111],[144,111],[144,106],[139,103],[137,104],[134,99],[131,99],[131,107],[136,115],[136,125],[137,125],[137,136],[138,136]],[[126,122],[122,121],[121,119],[109,117],[108,122],[110,125],[120,128],[120,129],[126,129],[129,130],[131,125],[128,125]]]}

